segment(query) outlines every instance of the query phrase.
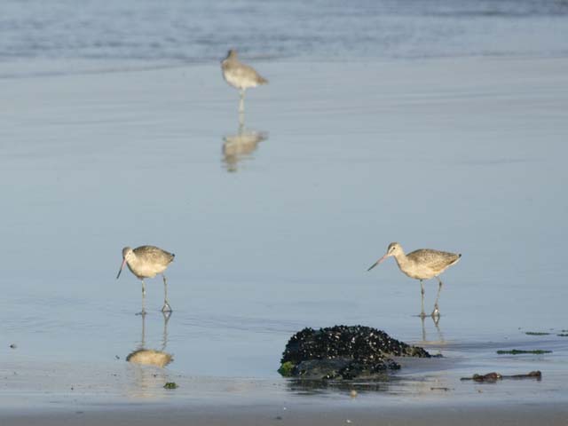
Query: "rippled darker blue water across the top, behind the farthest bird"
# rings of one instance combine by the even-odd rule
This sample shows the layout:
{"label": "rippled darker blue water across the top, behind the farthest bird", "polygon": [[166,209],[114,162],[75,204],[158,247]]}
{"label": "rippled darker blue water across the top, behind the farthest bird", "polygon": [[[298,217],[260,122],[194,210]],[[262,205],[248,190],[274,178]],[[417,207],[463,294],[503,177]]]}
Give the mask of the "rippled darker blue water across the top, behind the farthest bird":
{"label": "rippled darker blue water across the top, behind the farthest bird", "polygon": [[567,22],[564,0],[5,0],[0,76],[217,62],[232,47],[256,59],[565,56]]}

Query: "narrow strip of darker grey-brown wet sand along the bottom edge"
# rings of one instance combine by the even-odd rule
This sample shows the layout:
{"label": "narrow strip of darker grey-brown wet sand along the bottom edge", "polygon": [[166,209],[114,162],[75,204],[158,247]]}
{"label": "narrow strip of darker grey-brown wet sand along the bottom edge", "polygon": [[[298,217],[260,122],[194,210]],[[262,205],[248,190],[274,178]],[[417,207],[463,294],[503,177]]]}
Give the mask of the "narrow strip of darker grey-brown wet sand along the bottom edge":
{"label": "narrow strip of darker grey-brown wet sand along the bottom edge", "polygon": [[568,408],[564,404],[533,404],[525,406],[409,406],[405,408],[371,408],[357,406],[240,406],[227,408],[164,409],[137,406],[114,410],[77,410],[65,414],[20,414],[4,416],[5,426],[42,424],[103,424],[153,425],[565,425]]}

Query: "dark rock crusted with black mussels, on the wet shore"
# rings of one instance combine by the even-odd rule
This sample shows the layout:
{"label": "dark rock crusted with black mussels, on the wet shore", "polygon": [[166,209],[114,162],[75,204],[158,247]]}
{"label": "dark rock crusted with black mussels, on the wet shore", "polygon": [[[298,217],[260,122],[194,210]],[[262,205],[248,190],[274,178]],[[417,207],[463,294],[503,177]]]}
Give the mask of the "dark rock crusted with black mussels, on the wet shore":
{"label": "dark rock crusted with black mussels, on the wet shore", "polygon": [[279,371],[316,380],[382,378],[400,368],[392,356],[430,358],[430,353],[373,327],[304,328],[288,341]]}

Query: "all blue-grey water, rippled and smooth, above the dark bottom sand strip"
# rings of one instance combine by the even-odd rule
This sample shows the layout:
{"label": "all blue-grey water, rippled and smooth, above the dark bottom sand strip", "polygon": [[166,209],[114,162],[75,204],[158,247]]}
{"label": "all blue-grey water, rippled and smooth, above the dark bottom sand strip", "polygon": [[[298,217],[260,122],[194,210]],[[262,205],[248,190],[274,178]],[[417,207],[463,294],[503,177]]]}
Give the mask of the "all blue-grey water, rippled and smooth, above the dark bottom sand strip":
{"label": "all blue-grey water, rippled and smooth, above the dark bottom sand strip", "polygon": [[[291,335],[335,324],[445,357],[358,404],[564,400],[567,20],[564,1],[3,2],[4,406],[343,400],[276,372]],[[270,81],[241,126],[218,68],[235,46]],[[367,272],[390,241],[463,255],[438,325],[392,259]],[[148,243],[177,255],[167,321],[160,279],[145,319],[114,279]],[[140,347],[174,362],[127,364]]]}

